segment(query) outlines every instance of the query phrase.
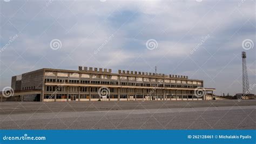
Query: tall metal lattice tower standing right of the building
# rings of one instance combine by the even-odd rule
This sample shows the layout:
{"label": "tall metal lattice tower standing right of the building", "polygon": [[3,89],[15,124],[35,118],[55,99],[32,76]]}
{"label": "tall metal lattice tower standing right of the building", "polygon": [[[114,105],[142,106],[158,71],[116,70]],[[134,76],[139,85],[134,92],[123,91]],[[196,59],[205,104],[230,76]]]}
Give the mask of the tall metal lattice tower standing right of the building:
{"label": "tall metal lattice tower standing right of the building", "polygon": [[246,66],[246,53],[242,52],[242,94],[246,95],[248,93],[250,93],[250,91]]}

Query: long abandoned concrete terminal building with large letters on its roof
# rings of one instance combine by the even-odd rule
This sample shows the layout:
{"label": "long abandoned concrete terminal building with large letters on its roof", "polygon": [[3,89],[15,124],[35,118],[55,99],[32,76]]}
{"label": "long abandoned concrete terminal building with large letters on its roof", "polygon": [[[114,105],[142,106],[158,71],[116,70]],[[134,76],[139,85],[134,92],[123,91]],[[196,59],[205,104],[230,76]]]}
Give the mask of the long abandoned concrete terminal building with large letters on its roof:
{"label": "long abandoned concrete terminal building with large letters on its roof", "polygon": [[[31,71],[13,76],[11,88],[14,96],[6,99],[41,102],[204,100],[215,90],[187,76],[129,70],[112,73],[111,69],[92,67]],[[201,91],[201,96],[196,91]]]}

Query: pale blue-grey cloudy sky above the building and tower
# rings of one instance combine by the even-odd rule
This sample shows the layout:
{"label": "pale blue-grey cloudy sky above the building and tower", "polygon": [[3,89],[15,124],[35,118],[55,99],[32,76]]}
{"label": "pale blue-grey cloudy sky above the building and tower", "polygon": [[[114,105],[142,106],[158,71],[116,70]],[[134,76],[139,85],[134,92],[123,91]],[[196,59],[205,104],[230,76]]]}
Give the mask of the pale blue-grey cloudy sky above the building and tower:
{"label": "pale blue-grey cloudy sky above the building and tower", "polygon": [[242,91],[241,51],[249,83],[256,83],[255,1],[0,4],[1,90],[11,76],[41,68],[153,72],[157,65],[158,73],[187,75],[217,95],[234,95]]}

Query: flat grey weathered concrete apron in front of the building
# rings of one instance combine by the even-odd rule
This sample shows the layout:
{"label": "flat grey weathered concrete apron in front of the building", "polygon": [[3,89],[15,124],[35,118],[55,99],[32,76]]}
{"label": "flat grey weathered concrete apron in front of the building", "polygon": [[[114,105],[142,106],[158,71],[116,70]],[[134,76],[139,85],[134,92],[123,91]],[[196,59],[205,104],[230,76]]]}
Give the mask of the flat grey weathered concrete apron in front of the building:
{"label": "flat grey weathered concrete apron in front of the building", "polygon": [[1,129],[255,129],[256,100],[0,103]]}

